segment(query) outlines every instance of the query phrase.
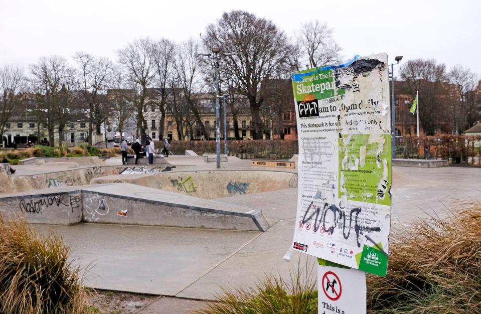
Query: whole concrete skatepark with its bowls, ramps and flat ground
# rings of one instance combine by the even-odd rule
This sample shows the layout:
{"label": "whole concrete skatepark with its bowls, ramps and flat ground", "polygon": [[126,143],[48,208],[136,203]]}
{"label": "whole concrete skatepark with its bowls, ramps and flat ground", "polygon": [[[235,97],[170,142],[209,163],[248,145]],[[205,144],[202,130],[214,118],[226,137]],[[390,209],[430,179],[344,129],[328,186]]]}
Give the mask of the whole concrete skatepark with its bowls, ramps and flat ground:
{"label": "whole concrete skatepark with its bowls, ramps and flat ground", "polygon": [[[75,263],[89,269],[88,287],[185,304],[214,299],[222,287],[252,286],[264,274],[288,277],[306,259],[282,258],[296,223],[295,168],[231,156],[220,170],[202,156],[139,167],[120,158],[32,159],[16,168],[0,173],[2,215],[63,236]],[[393,166],[391,236],[417,218],[479,201],[478,172]],[[139,312],[158,312],[161,301]]]}

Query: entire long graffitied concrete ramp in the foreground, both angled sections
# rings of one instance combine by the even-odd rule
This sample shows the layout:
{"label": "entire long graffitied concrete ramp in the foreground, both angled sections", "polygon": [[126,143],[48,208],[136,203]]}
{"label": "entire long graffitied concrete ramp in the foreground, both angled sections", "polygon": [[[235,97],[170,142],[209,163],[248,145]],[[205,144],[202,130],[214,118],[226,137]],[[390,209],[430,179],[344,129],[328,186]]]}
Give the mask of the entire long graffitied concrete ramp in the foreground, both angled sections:
{"label": "entire long graffitied concrete ramp in the foreground, both angled sections", "polygon": [[127,183],[46,189],[0,197],[7,219],[71,225],[81,221],[265,231],[261,211]]}

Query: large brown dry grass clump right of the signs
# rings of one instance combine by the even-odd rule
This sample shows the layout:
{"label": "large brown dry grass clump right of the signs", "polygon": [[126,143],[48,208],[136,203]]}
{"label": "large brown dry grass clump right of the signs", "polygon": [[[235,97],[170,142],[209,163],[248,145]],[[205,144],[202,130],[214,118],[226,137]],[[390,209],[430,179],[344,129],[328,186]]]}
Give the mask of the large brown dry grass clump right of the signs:
{"label": "large brown dry grass clump right of the signs", "polygon": [[481,208],[411,224],[390,246],[386,277],[369,275],[369,313],[481,312]]}

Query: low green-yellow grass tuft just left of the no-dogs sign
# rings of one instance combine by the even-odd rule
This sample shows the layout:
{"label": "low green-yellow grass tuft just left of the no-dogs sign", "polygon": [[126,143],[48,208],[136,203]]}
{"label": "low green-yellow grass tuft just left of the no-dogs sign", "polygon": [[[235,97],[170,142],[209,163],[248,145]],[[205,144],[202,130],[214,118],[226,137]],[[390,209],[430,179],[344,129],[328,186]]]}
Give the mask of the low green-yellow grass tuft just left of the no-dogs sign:
{"label": "low green-yellow grass tuft just left of the no-dogs sign", "polygon": [[317,289],[314,265],[297,265],[290,280],[280,275],[266,276],[254,288],[223,288],[215,301],[198,314],[317,314]]}

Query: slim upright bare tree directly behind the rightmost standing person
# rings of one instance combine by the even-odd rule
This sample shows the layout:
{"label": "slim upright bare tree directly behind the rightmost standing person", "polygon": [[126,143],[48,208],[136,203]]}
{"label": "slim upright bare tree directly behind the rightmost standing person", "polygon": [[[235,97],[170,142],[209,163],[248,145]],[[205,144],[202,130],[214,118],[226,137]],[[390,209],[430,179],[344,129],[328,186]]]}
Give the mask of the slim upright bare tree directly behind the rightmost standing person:
{"label": "slim upright bare tree directly behind the rightmost standing person", "polygon": [[152,57],[155,65],[155,86],[159,91],[161,97],[158,104],[161,111],[161,120],[159,123],[159,138],[164,136],[165,118],[167,110],[167,101],[169,97],[169,83],[172,82],[175,75],[175,55],[177,47],[176,44],[168,39],[161,39],[153,45]]}

